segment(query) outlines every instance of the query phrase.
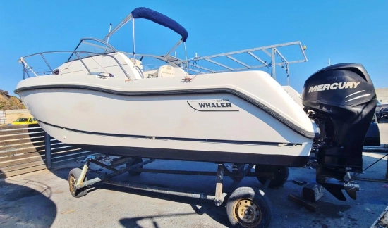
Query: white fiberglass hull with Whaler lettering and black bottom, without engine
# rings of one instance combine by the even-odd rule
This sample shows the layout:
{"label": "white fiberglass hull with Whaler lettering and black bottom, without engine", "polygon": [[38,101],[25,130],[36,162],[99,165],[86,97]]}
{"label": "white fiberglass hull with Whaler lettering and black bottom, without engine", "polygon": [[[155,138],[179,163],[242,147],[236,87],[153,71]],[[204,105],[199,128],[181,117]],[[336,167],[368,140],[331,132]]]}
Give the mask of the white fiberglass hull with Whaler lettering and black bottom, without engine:
{"label": "white fiberglass hull with Whaler lettering and black bottom, without engine", "polygon": [[121,156],[302,166],[317,134],[265,72],[34,77],[16,92],[52,137]]}

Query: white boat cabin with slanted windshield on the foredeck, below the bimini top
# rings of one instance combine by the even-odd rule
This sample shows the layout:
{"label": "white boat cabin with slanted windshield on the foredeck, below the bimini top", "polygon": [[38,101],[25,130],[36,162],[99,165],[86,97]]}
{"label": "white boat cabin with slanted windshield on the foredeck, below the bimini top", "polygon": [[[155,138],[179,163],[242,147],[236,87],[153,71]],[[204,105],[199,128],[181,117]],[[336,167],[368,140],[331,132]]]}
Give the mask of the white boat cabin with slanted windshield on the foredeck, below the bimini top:
{"label": "white boat cabin with slanted windshield on the foredeck, below the bimini top", "polygon": [[[91,42],[92,41],[92,42]],[[95,42],[99,44],[95,44]],[[92,46],[97,52],[85,51]],[[140,80],[156,77],[185,77],[187,73],[181,68],[181,63],[175,64],[164,56],[142,56],[133,58],[132,53],[117,51],[113,46],[98,39],[81,39],[80,44],[71,53],[68,61],[54,69],[55,75],[102,75],[130,80]],[[171,56],[169,56],[171,58]],[[143,59],[154,58],[157,64],[143,67]]]}

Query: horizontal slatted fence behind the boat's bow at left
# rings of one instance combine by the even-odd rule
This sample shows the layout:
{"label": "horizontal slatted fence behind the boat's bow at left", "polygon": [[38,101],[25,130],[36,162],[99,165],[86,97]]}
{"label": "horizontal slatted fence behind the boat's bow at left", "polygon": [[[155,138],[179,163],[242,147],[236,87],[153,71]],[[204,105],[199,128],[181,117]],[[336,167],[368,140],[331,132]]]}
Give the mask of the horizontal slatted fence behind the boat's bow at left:
{"label": "horizontal slatted fence behind the boat's bow at left", "polygon": [[95,154],[63,144],[39,125],[0,126],[0,178],[58,167]]}

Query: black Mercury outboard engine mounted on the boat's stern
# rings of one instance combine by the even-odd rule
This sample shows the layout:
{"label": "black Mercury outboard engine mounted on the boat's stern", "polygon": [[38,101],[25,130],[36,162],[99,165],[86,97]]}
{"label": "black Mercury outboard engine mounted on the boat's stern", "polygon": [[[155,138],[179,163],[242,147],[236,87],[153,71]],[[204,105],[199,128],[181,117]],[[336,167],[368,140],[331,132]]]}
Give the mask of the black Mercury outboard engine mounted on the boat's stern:
{"label": "black Mercury outboard engine mounted on the boat's stern", "polygon": [[356,199],[359,186],[344,180],[363,172],[363,141],[377,105],[375,87],[361,64],[341,63],[311,75],[303,87],[303,106],[320,127],[313,152],[317,183],[341,201],[342,189]]}

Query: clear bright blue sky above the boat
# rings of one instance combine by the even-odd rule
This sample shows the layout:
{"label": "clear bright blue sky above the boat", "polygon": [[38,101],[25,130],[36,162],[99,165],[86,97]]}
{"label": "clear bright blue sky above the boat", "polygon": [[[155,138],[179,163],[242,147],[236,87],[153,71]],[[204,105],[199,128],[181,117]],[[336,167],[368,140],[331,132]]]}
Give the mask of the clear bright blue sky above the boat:
{"label": "clear bright blue sky above the boat", "polygon": [[[290,84],[331,63],[362,63],[376,88],[388,87],[388,1],[1,1],[0,89],[13,94],[23,79],[18,58],[31,53],[73,50],[81,37],[103,39],[140,6],[168,15],[188,30],[188,57],[301,41],[308,62],[290,66]],[[136,20],[136,52],[162,54],[180,39],[174,32]],[[117,36],[116,36],[117,35]],[[109,40],[132,51],[131,25]],[[281,49],[280,49],[281,51]],[[300,59],[301,52],[285,51]],[[178,57],[182,56],[178,49]],[[261,70],[266,70],[262,68]],[[277,68],[277,81],[286,73]]]}

